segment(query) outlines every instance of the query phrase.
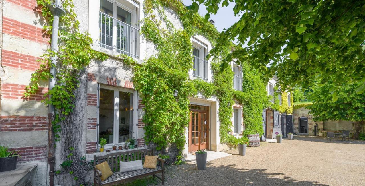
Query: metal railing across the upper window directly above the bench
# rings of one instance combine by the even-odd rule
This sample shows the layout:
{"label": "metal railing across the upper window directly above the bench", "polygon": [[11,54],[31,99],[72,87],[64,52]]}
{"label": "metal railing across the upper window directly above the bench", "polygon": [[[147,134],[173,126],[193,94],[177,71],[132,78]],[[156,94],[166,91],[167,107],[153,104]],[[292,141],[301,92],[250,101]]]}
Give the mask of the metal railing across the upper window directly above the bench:
{"label": "metal railing across the upper window directly above the bench", "polygon": [[[99,12],[99,45],[120,54],[139,58],[139,29]],[[116,37],[114,37],[116,35]]]}

